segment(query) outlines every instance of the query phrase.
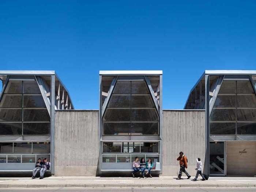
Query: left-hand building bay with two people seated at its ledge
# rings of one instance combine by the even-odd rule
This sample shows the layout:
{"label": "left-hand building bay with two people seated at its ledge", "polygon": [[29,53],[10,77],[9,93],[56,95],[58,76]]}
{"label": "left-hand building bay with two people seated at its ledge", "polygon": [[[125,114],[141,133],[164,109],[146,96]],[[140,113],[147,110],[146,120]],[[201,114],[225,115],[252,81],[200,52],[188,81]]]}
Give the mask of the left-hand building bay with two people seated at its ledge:
{"label": "left-hand building bay with two people seated at its ledge", "polygon": [[0,71],[0,172],[31,172],[48,158],[54,174],[55,109],[73,109],[54,71]]}

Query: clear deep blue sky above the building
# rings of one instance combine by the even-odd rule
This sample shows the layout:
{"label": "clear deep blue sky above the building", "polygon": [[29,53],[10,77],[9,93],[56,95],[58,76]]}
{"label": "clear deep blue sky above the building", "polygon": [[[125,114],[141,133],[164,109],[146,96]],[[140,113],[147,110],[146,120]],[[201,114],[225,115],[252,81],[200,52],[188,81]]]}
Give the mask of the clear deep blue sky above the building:
{"label": "clear deep blue sky above the building", "polygon": [[182,109],[205,69],[256,69],[256,1],[0,1],[0,70],[55,70],[98,109],[99,70],[163,70]]}

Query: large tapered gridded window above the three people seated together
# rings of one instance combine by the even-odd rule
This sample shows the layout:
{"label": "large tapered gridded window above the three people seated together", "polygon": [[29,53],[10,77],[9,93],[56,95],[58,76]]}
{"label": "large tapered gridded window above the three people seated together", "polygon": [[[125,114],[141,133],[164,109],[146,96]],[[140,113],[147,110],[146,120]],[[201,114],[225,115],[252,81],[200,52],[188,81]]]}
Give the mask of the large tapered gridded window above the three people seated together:
{"label": "large tapered gridded window above the three people seated together", "polygon": [[158,135],[159,117],[145,80],[117,80],[102,118],[103,135]]}

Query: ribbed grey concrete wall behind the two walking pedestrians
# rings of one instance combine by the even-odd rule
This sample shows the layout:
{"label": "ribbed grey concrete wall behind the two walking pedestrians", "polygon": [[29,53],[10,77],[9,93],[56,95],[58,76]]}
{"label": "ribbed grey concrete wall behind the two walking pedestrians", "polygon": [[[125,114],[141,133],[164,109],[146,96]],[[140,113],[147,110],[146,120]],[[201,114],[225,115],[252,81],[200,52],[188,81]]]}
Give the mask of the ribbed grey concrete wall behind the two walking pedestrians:
{"label": "ribbed grey concrete wall behind the two walking pedestrians", "polygon": [[176,176],[180,151],[188,157],[187,171],[195,175],[196,158],[204,165],[205,158],[204,110],[163,110],[163,175]]}

